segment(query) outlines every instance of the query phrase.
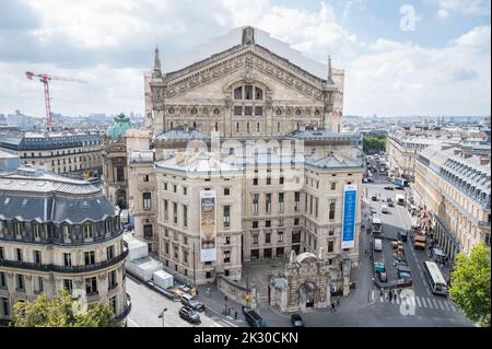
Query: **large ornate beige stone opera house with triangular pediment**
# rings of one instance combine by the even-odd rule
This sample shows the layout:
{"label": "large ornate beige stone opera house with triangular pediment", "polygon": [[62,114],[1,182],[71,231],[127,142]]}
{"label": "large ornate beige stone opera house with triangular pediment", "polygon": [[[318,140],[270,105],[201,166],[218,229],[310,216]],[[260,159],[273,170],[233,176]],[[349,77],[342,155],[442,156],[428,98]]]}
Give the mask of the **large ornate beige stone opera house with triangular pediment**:
{"label": "large ornate beige stone opera house with triangular pediment", "polygon": [[[324,248],[324,260],[338,270],[330,282],[344,287],[358,264],[361,224],[358,193],[354,244],[342,248],[344,188],[362,183],[363,164],[352,136],[340,133],[343,70],[253,27],[215,44],[169,67],[155,49],[144,74],[151,147],[127,153],[136,181],[129,206],[148,213],[148,242],[167,271],[199,284],[218,275],[241,280],[249,260]],[[283,159],[284,142],[303,144],[288,154],[289,164],[302,163],[294,175],[270,158]],[[138,183],[140,176],[149,182]],[[212,260],[201,255],[202,191],[214,193]],[[143,223],[136,234],[144,235]]]}

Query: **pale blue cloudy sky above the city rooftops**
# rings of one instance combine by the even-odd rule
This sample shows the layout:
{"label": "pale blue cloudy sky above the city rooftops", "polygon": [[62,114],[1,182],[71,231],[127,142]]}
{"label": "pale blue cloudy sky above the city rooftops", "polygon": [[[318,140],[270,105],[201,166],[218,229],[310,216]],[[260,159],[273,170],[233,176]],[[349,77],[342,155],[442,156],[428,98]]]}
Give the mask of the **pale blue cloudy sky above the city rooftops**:
{"label": "pale blue cloudy sky above the city rooftops", "polygon": [[345,115],[490,115],[490,0],[0,0],[0,113],[143,112],[143,71],[254,25],[345,69]]}

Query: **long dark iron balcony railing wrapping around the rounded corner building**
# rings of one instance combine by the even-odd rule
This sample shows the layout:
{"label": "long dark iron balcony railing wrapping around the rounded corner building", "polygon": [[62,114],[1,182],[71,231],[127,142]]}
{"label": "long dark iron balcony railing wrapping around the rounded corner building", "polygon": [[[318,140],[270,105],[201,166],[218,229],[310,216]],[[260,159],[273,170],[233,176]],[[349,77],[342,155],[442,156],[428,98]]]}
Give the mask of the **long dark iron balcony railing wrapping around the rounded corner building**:
{"label": "long dark iron balcony railing wrapping around the rounded corner building", "polygon": [[87,266],[58,266],[54,264],[36,264],[31,261],[17,261],[17,260],[8,260],[0,259],[1,267],[8,268],[20,268],[20,269],[30,269],[30,270],[38,270],[38,271],[52,271],[52,272],[65,272],[65,274],[77,274],[77,272],[89,272],[94,270],[104,269],[115,264],[124,260],[128,256],[128,249],[124,249],[124,252],[116,256],[115,258],[107,259],[104,261],[98,261]]}

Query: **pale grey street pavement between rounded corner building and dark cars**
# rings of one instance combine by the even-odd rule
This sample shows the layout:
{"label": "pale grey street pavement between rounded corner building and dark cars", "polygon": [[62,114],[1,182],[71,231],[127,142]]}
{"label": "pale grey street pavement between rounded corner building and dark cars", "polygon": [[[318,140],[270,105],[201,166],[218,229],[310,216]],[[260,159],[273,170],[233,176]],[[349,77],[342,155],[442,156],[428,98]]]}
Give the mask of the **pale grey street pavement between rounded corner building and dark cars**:
{"label": "pale grey street pavement between rounded corner building and dark cars", "polygon": [[142,283],[127,277],[127,292],[131,296],[131,312],[128,315],[128,327],[162,327],[162,318],[159,318],[164,307],[164,327],[231,327],[237,326],[219,316],[201,312],[201,324],[191,325],[178,315],[183,306],[180,302],[173,302],[159,292],[149,289]]}

